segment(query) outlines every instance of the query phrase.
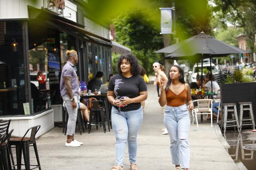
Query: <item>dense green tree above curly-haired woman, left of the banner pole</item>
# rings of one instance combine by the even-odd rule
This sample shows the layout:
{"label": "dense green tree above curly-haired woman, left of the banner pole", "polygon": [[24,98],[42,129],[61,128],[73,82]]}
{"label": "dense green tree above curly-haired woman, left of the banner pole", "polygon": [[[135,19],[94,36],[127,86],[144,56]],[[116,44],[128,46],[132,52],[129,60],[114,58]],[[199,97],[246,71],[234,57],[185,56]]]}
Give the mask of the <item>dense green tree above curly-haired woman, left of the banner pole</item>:
{"label": "dense green tree above curly-haired woman, left of the banner pole", "polygon": [[163,44],[158,25],[138,9],[120,13],[112,22],[115,25],[117,42],[131,48],[140,65],[148,73],[152,73],[151,65],[161,59],[161,54],[153,51],[162,48]]}

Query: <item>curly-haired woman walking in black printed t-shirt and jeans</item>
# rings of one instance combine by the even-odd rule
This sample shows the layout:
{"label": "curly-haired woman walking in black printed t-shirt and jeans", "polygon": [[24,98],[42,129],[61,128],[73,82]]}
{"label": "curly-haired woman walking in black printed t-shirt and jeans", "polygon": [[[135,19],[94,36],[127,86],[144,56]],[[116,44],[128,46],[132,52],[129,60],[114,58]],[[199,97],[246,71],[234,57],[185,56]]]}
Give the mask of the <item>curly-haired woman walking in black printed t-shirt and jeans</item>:
{"label": "curly-haired woman walking in black printed t-shirt and jeans", "polygon": [[147,99],[147,85],[139,76],[139,62],[133,54],[119,57],[117,71],[119,74],[110,79],[108,88],[108,100],[113,103],[111,121],[116,136],[116,166],[111,170],[122,170],[127,142],[130,169],[138,170],[135,164],[137,133],[142,123],[141,102]]}

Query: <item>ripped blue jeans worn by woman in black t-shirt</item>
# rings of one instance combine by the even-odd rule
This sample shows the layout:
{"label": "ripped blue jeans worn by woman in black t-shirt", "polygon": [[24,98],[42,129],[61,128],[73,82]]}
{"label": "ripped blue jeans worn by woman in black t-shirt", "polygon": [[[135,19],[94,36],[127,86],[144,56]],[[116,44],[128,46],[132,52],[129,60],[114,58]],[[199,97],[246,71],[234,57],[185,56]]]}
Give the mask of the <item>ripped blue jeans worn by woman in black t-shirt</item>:
{"label": "ripped blue jeans worn by woman in black t-shirt", "polygon": [[136,162],[137,134],[142,123],[142,107],[135,111],[120,111],[112,107],[111,120],[116,136],[116,162],[122,166],[125,157],[126,143],[130,163]]}

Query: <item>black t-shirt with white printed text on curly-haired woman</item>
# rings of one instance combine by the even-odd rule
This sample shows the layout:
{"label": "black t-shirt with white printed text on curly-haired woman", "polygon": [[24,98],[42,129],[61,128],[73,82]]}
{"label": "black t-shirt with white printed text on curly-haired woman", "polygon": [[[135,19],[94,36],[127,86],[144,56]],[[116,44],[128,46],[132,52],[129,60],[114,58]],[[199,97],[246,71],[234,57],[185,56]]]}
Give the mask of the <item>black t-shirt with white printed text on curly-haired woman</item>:
{"label": "black t-shirt with white printed text on curly-haired woman", "polygon": [[[109,81],[109,91],[114,91],[115,100],[121,100],[121,97],[134,98],[139,96],[139,92],[147,91],[147,85],[142,76],[131,76],[129,78],[117,74]],[[118,109],[117,106],[114,106]],[[134,111],[141,107],[141,103],[131,103],[121,108],[121,111]]]}

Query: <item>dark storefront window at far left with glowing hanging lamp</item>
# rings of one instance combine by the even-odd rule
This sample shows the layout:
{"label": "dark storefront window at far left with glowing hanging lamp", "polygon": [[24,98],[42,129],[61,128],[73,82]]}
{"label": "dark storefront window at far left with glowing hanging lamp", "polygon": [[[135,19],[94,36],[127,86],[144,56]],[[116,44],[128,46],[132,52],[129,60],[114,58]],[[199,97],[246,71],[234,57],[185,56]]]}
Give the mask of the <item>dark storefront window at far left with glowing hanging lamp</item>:
{"label": "dark storefront window at far left with glowing hanging lamp", "polygon": [[30,114],[26,22],[0,22],[0,116]]}

